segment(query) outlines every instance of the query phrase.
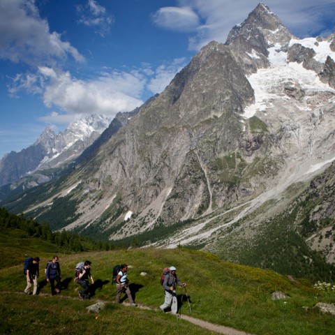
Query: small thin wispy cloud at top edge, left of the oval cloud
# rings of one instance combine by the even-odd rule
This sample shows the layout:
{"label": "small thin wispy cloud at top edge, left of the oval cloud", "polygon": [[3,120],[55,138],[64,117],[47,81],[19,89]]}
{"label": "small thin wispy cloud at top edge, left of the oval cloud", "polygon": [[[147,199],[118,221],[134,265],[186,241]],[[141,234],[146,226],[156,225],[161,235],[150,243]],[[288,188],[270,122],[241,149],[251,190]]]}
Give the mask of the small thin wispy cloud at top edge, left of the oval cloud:
{"label": "small thin wispy cloud at top edge, left of the oval cloud", "polygon": [[77,13],[80,15],[78,22],[84,26],[96,28],[96,34],[104,37],[110,33],[114,18],[108,15],[106,8],[96,1],[88,0],[86,6],[77,6]]}

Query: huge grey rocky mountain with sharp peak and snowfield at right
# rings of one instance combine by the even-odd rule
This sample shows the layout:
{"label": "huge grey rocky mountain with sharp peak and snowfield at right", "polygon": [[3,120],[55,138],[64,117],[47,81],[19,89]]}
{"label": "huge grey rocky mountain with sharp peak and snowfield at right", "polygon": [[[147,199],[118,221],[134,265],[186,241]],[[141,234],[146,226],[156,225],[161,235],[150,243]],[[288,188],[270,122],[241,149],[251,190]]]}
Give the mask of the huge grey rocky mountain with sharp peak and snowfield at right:
{"label": "huge grey rocky mountain with sharp peak and snowfield at right", "polygon": [[299,40],[260,3],[66,177],[3,204],[54,229],[246,264],[263,241],[297,235],[334,262],[334,59],[334,36]]}

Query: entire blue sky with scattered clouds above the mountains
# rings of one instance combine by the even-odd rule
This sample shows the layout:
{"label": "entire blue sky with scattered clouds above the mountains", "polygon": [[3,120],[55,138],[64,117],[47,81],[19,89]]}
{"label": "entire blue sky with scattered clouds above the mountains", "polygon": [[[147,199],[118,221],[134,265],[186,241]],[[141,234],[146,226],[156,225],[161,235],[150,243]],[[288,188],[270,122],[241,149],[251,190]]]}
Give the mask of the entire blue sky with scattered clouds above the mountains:
{"label": "entire blue sky with scattered clouds above the mountains", "polygon": [[[161,93],[259,0],[0,0],[0,158],[89,114]],[[298,38],[335,32],[334,0],[262,1]]]}

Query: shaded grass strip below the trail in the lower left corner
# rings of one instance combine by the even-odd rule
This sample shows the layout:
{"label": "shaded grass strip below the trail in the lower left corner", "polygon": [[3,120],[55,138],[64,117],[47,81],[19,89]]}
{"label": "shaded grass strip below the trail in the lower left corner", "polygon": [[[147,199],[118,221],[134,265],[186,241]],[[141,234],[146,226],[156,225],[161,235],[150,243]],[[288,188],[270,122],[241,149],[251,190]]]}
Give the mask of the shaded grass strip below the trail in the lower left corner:
{"label": "shaded grass strip below the trail in the lower left corner", "polygon": [[1,334],[213,334],[172,316],[115,304],[96,315],[85,309],[91,302],[64,297],[1,293],[0,300]]}

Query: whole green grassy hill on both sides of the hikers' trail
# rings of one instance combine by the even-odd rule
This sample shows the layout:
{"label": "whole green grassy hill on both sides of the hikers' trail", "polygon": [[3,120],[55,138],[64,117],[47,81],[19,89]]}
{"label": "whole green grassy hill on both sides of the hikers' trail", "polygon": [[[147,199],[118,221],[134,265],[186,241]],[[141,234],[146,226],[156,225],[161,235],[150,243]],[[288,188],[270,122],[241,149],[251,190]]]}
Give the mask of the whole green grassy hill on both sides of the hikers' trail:
{"label": "whole green grassy hill on both sides of the hikers' trail", "polygon": [[[92,275],[98,285],[91,301],[80,301],[73,269],[86,259],[92,262]],[[46,261],[42,258],[41,264]],[[61,255],[60,262],[67,287],[57,297],[50,297],[49,285],[36,297],[19,293],[25,286],[22,265],[0,270],[3,334],[36,334],[36,330],[38,334],[209,334],[206,329],[177,322],[172,315],[112,304],[112,267],[121,262],[130,265],[128,277],[137,304],[158,308],[163,303],[161,271],[174,265],[181,281],[187,283],[192,306],[191,313],[184,289],[178,288],[180,313],[260,335],[322,335],[331,334],[335,327],[333,315],[313,307],[318,301],[334,304],[334,292],[318,292],[309,281],[290,281],[274,271],[235,265],[207,253],[183,248],[133,248]],[[141,276],[141,272],[147,275]],[[272,301],[271,292],[275,290],[291,298]],[[110,302],[98,319],[85,309],[96,299]]]}

